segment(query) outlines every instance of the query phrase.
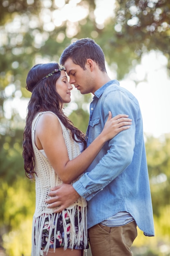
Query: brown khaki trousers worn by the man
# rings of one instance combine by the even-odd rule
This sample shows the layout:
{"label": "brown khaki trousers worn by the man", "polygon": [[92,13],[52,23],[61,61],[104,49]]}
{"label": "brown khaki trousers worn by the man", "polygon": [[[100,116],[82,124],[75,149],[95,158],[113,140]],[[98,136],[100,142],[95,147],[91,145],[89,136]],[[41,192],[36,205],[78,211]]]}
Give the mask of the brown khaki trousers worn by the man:
{"label": "brown khaki trousers worn by the man", "polygon": [[121,227],[97,224],[88,229],[93,256],[132,256],[130,247],[137,237],[135,221]]}

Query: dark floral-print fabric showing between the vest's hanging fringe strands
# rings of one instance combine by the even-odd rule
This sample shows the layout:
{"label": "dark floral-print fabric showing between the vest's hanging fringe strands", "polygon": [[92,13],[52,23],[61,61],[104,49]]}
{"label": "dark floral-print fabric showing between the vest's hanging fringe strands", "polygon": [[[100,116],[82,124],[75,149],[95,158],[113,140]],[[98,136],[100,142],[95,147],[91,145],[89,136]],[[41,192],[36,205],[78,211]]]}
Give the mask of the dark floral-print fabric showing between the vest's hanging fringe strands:
{"label": "dark floral-print fabric showing between the vest's hanging fringe strands", "polygon": [[[78,208],[78,210],[77,209],[75,210],[75,215],[74,215],[75,216],[74,225],[75,225],[76,236],[79,235],[78,234],[78,232],[79,232],[78,223],[81,222],[81,219],[82,219],[81,211],[79,211],[80,207],[77,207],[77,208]],[[79,214],[77,214],[77,211],[79,211]],[[55,213],[53,213],[53,215],[54,214]],[[67,248],[70,248],[71,221],[68,216],[67,210],[64,209],[64,215],[61,212],[56,216],[56,218],[53,218],[53,224],[52,224],[53,228],[52,228],[52,232],[50,231],[50,233],[51,233],[50,237],[49,237],[49,221],[51,221],[51,216],[50,216],[50,220],[49,220],[48,216],[45,218],[43,231],[42,231],[42,250],[46,247],[46,244],[49,241],[49,239],[50,239],[49,248],[54,249],[54,244],[55,244],[55,248],[64,247],[63,216],[64,216],[65,222],[66,222],[66,234],[67,234],[67,242],[68,242]],[[40,218],[38,219],[38,221],[39,220],[40,220]],[[84,236],[83,236],[83,234],[81,234],[80,244],[79,245],[74,244],[73,249],[88,249],[88,248],[89,248],[88,244],[84,245]]]}

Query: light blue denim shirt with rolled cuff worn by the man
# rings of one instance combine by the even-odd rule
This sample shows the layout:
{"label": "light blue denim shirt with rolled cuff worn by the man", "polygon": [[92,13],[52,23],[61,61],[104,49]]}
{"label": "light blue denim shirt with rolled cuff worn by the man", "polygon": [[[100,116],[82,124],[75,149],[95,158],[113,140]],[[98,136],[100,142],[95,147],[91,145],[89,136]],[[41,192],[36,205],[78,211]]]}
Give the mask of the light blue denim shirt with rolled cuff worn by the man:
{"label": "light blue denim shirt with rolled cuff worn by the man", "polygon": [[141,110],[137,99],[117,80],[109,81],[95,92],[90,105],[87,146],[102,132],[108,118],[127,114],[130,129],[119,132],[73,184],[88,201],[88,228],[127,211],[146,236],[154,236],[154,224]]}

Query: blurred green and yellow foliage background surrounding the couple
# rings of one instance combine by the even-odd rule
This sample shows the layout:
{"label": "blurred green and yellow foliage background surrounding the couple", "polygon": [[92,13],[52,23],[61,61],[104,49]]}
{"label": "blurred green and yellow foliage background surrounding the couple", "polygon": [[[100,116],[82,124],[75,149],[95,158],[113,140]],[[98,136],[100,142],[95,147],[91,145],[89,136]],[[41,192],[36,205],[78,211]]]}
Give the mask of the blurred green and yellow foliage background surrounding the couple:
{"label": "blurred green and yellow foliage background surrounding the couple", "polygon": [[[97,23],[95,17],[99,2],[77,0],[73,4],[65,0],[62,5],[62,1],[56,0],[1,1],[0,255],[30,256],[31,251],[35,189],[34,183],[25,178],[23,168],[24,120],[15,109],[8,118],[4,111],[5,104],[13,99],[29,99],[31,94],[25,90],[29,69],[40,62],[59,62],[64,48],[72,40],[83,37],[94,38],[102,47],[117,79],[128,74],[142,55],[152,49],[166,56],[170,69],[170,1],[116,0],[113,15],[103,24]],[[72,7],[82,8],[86,14],[74,21]],[[70,8],[68,13],[66,8]],[[11,94],[7,93],[10,88]],[[73,101],[70,104],[74,111],[69,111],[71,105],[66,110],[74,125],[85,132],[91,95],[75,93]],[[146,238],[139,231],[133,252],[136,256],[169,255],[170,136],[148,137],[146,151],[156,236]]]}

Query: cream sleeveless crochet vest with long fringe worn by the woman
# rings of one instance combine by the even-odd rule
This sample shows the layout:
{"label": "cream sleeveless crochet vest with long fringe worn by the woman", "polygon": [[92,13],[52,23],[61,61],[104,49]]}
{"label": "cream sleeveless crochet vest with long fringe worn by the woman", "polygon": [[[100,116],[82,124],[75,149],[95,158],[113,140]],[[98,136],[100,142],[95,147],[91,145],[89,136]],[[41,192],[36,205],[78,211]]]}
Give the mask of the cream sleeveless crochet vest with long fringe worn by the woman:
{"label": "cream sleeveless crochet vest with long fringe worn by the woman", "polygon": [[[48,111],[50,112],[50,111]],[[51,191],[51,188],[61,185],[63,182],[60,180],[60,178],[55,173],[53,167],[51,166],[49,160],[38,150],[38,148],[35,146],[35,127],[36,123],[39,119],[39,117],[46,112],[40,112],[38,115],[35,116],[32,122],[32,144],[33,144],[33,150],[35,155],[35,171],[37,175],[35,175],[35,192],[36,192],[36,203],[35,203],[35,213],[33,216],[33,229],[32,229],[32,252],[31,256],[40,256],[43,255],[43,252],[48,252],[49,245],[50,245],[50,239],[49,243],[47,243],[45,249],[41,250],[41,237],[42,237],[42,226],[44,224],[46,216],[51,216],[51,218],[57,218],[57,214],[52,214],[53,209],[47,208],[47,204],[45,203],[46,199],[49,198],[48,193]],[[53,113],[53,112],[51,112]],[[53,115],[55,115],[53,113]],[[55,115],[56,116],[56,115]],[[56,116],[57,117],[57,116]],[[57,117],[58,118],[58,117]],[[66,127],[62,124],[60,119],[58,118],[60,125],[62,127],[63,137],[65,139],[66,147],[68,150],[68,156],[69,159],[72,160],[75,157],[77,157],[80,154],[79,144],[73,140],[71,137],[71,133],[69,129],[66,129]],[[57,142],[56,142],[57,143]],[[81,177],[81,176],[79,176]],[[76,182],[79,177],[74,180],[72,183]],[[81,207],[81,214],[82,214],[82,221],[79,223],[79,230],[83,232],[84,238],[85,238],[85,244],[87,243],[87,220],[86,220],[86,211],[87,211],[87,202],[84,198],[80,197],[74,204],[72,204],[70,207],[67,208],[68,215],[70,216],[70,220],[72,222],[72,238],[70,243],[70,249],[73,249],[74,243],[79,244],[80,243],[80,236],[75,236],[75,228],[74,228],[74,210],[78,206]],[[72,209],[72,211],[69,211]],[[72,215],[71,215],[72,212]],[[41,217],[40,217],[41,216]],[[38,225],[38,221],[36,221],[36,218],[41,218],[41,225]],[[64,220],[64,218],[63,218]],[[40,222],[39,222],[40,223]],[[51,226],[50,228],[53,228],[52,225],[53,221],[51,219]],[[50,223],[49,223],[50,225]],[[34,234],[35,232],[35,234]],[[64,232],[66,235],[66,232]],[[34,242],[35,241],[35,242]],[[65,236],[64,240],[64,249],[67,248],[67,237]],[[55,249],[54,249],[55,251]]]}

